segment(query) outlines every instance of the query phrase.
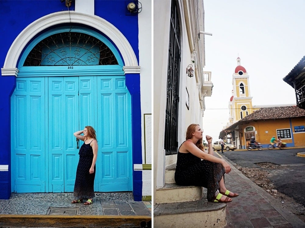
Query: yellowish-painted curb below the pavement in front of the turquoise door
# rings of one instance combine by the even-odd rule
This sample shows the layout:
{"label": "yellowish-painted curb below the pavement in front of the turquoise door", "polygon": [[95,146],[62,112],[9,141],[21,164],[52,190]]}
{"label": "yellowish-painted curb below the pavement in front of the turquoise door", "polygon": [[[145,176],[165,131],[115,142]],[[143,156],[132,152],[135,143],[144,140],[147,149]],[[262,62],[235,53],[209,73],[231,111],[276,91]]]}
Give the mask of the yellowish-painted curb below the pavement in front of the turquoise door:
{"label": "yellowish-painted curb below the pavement in front of the turquoise door", "polygon": [[93,215],[0,215],[0,227],[141,227],[150,216],[93,216]]}

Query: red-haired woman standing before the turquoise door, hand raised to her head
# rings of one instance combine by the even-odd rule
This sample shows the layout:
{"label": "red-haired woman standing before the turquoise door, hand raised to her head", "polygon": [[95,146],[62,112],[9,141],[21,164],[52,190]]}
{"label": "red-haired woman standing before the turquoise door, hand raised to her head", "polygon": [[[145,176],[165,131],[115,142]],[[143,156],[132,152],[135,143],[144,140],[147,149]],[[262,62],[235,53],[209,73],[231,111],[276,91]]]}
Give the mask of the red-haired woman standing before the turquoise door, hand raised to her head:
{"label": "red-haired woman standing before the turquoise door, hand raised to her head", "polygon": [[[81,135],[84,133],[84,135]],[[97,140],[95,130],[91,126],[85,126],[84,130],[77,131],[74,136],[84,141],[79,150],[79,161],[76,170],[74,184],[74,200],[71,203],[82,203],[83,199],[88,199],[84,205],[92,202],[94,194],[95,162],[97,158]]]}

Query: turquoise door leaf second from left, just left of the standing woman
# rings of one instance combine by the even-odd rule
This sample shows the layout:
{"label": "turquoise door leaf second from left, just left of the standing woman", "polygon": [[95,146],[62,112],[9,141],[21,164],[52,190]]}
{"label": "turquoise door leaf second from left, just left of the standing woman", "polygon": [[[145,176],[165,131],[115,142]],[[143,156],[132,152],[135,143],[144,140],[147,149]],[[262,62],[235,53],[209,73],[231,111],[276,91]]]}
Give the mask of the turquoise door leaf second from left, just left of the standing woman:
{"label": "turquoise door leaf second from left, just left of the standing woman", "polygon": [[48,78],[49,192],[73,192],[78,161],[78,77]]}

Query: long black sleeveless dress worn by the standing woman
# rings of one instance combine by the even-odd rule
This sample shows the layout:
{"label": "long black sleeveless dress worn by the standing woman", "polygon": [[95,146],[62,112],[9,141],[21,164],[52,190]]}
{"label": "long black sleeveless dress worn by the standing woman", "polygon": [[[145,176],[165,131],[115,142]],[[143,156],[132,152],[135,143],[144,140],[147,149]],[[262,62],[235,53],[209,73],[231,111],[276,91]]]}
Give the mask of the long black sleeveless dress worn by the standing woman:
{"label": "long black sleeveless dress worn by the standing woman", "polygon": [[89,144],[84,144],[79,150],[79,161],[76,170],[76,178],[74,184],[74,199],[91,199],[95,197],[94,194],[94,178],[95,178],[95,165],[94,173],[90,174],[89,169],[93,161],[93,150]]}

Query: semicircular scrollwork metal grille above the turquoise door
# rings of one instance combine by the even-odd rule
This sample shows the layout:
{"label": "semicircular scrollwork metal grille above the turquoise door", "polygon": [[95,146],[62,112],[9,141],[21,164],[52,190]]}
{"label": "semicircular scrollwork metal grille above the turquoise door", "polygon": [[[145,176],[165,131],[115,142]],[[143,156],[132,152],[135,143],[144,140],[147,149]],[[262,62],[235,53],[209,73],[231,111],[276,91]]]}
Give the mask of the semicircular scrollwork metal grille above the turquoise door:
{"label": "semicircular scrollwork metal grille above the turquoise door", "polygon": [[118,65],[113,52],[101,40],[85,33],[63,32],[40,41],[23,66]]}

